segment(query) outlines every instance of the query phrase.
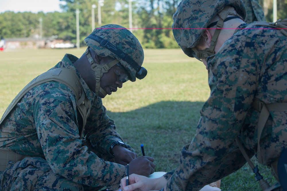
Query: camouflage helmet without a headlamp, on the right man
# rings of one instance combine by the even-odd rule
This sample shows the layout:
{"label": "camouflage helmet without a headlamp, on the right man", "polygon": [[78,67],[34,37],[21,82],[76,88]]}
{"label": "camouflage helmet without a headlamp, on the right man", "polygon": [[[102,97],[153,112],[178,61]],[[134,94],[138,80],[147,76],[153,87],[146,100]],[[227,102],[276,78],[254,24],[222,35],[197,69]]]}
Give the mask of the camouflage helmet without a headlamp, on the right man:
{"label": "camouflage helmet without a headlamp, on the right man", "polygon": [[[235,9],[226,10],[226,6]],[[221,11],[221,12],[220,12]],[[195,46],[199,43],[199,39],[204,30],[210,28],[208,25],[211,19],[220,12],[220,20],[216,25],[216,30],[212,38],[209,49],[196,51]],[[232,18],[246,18],[246,8],[242,0],[183,0],[177,7],[173,15],[172,32],[175,40],[189,57],[204,58],[214,54],[217,37],[224,21],[230,19],[227,15],[235,15]]]}

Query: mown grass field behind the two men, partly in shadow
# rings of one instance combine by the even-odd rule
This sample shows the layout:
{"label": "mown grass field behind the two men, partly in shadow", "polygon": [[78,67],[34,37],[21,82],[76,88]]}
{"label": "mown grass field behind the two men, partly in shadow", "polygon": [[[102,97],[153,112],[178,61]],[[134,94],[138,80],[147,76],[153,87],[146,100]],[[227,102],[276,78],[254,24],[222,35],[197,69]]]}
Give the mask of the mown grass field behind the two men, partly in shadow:
{"label": "mown grass field behind the two men, partly in shadow", "polygon": [[[30,80],[61,61],[64,54],[80,57],[84,51],[0,52],[0,116]],[[183,145],[194,136],[200,108],[210,92],[207,70],[181,49],[146,49],[143,66],[148,70],[146,78],[124,83],[123,88],[104,98],[103,104],[125,142],[139,156],[143,143],[146,155],[155,159],[156,171],[168,172],[177,166]],[[265,178],[272,177],[269,169],[259,168]],[[223,178],[221,189],[260,190],[248,165]]]}

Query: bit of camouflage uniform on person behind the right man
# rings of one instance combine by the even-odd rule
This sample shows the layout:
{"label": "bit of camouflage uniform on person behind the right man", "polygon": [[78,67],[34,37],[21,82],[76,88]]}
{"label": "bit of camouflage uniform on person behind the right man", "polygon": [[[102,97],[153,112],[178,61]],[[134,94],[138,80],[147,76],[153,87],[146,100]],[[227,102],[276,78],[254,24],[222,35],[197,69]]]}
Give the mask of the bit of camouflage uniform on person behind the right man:
{"label": "bit of camouflage uniform on person behind the right man", "polygon": [[266,21],[262,7],[259,4],[259,0],[243,0],[246,7],[246,19],[245,23],[251,23],[252,21]]}

